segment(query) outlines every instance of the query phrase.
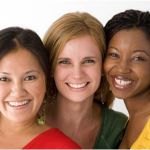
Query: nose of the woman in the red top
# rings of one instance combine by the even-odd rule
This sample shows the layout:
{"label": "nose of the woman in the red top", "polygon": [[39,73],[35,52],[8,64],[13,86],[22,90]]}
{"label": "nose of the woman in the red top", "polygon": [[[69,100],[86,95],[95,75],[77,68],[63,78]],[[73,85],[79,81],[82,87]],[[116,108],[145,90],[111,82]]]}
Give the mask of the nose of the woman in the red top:
{"label": "nose of the woman in the red top", "polygon": [[24,89],[22,83],[20,82],[13,83],[11,94],[10,94],[12,97],[21,98],[25,96],[25,94],[26,94],[26,90]]}

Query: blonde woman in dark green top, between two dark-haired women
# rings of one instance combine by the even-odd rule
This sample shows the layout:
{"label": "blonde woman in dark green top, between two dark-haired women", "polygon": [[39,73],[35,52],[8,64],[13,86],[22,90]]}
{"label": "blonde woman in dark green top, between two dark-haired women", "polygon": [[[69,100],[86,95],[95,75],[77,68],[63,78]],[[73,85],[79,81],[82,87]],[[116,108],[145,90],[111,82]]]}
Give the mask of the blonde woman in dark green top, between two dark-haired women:
{"label": "blonde woman in dark green top, between two dark-haired women", "polygon": [[50,96],[47,123],[82,148],[117,148],[127,117],[109,109],[112,102],[103,79],[106,52],[102,24],[88,13],[67,13],[48,29]]}

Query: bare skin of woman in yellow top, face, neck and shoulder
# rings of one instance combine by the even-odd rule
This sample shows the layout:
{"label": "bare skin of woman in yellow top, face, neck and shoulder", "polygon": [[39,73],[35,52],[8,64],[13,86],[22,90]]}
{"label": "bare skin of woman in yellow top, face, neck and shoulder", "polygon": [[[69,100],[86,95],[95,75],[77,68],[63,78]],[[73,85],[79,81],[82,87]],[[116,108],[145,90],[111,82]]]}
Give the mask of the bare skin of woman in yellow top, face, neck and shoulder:
{"label": "bare skin of woman in yellow top, face, neck and shoulder", "polygon": [[105,73],[113,94],[124,99],[129,112],[120,148],[130,148],[149,119],[149,66],[150,41],[143,31],[121,30],[110,40],[104,63]]}

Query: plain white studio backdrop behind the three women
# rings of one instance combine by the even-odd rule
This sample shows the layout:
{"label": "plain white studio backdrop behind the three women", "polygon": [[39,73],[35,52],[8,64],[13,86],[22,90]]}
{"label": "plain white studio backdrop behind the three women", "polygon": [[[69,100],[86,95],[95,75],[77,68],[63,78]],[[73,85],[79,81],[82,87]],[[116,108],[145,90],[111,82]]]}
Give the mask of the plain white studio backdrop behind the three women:
{"label": "plain white studio backdrop behind the three women", "polygon": [[[150,11],[149,0],[0,0],[0,29],[9,26],[30,28],[41,38],[48,27],[68,12],[88,12],[103,25],[126,9]],[[128,115],[123,100],[116,99],[113,109]]]}

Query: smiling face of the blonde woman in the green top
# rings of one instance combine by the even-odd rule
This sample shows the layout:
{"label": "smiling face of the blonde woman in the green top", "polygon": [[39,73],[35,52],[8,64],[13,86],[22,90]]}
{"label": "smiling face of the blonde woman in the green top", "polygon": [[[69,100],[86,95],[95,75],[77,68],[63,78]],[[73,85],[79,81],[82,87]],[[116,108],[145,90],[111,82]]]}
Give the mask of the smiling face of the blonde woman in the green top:
{"label": "smiling face of the blonde woman in the green top", "polygon": [[100,50],[89,35],[68,41],[54,71],[59,96],[74,102],[92,99],[100,84],[101,62]]}

